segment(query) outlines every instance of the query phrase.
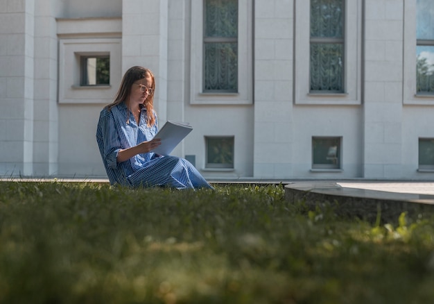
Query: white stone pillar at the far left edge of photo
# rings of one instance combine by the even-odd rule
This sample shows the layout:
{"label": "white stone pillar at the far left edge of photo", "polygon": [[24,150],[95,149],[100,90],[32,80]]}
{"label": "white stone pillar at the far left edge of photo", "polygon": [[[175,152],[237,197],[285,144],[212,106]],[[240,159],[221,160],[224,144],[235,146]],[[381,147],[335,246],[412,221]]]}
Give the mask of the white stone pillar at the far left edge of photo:
{"label": "white stone pillar at the far left edge of photo", "polygon": [[0,4],[0,176],[33,174],[35,2]]}

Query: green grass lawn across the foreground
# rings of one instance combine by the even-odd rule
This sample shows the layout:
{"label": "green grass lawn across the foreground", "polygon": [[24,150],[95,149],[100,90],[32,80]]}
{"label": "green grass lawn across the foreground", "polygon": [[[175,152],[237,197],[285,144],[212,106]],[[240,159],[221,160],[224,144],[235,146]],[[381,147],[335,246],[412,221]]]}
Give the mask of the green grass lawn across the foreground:
{"label": "green grass lawn across the foreground", "polygon": [[0,303],[433,303],[434,221],[216,191],[0,183]]}

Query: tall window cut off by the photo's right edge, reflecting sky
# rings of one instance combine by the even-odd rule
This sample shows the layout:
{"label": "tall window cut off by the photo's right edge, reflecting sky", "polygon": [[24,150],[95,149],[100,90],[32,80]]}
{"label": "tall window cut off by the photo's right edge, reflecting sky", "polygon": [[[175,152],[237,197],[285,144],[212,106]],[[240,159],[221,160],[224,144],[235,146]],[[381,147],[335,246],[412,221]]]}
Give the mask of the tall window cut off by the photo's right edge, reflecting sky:
{"label": "tall window cut off by the photo's right edge, reflecting sky", "polygon": [[434,94],[434,2],[417,0],[417,93]]}

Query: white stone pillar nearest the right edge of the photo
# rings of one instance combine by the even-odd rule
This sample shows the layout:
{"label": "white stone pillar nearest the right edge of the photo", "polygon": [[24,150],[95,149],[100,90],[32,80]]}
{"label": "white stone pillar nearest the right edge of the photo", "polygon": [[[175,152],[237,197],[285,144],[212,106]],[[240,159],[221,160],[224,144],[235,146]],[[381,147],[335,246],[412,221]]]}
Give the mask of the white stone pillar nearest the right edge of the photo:
{"label": "white stone pillar nearest the right edge of the photo", "polygon": [[402,46],[403,0],[366,0],[365,178],[402,177]]}

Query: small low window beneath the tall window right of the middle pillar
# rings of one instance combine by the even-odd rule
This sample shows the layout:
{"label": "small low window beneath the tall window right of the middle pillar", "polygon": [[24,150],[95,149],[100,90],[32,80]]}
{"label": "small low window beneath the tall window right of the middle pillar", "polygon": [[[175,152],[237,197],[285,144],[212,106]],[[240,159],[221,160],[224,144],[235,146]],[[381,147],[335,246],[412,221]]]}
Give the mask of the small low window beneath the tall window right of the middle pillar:
{"label": "small low window beneath the tall window right of the middle pillar", "polygon": [[312,137],[312,169],[340,169],[342,137]]}

